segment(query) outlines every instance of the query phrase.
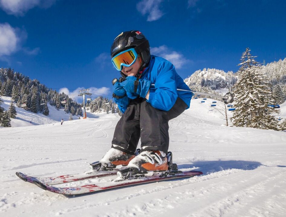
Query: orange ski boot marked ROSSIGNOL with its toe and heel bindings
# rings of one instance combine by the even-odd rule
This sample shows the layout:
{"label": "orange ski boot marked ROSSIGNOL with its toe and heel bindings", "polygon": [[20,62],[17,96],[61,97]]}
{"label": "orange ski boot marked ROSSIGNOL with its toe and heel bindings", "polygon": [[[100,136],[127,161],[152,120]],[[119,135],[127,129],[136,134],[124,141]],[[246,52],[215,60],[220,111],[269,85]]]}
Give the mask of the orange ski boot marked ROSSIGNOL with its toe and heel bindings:
{"label": "orange ski boot marked ROSSIGNOL with its toe and heel bindings", "polygon": [[117,176],[119,179],[133,179],[152,176],[154,173],[163,177],[178,172],[177,165],[172,162],[172,152],[162,155],[160,151],[143,151],[130,160],[126,167],[119,169]]}

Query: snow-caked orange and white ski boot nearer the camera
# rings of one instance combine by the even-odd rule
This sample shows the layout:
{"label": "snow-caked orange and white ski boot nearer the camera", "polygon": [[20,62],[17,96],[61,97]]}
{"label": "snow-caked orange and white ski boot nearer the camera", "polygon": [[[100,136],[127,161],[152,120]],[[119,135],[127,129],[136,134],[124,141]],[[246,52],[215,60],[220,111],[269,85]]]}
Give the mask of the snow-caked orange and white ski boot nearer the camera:
{"label": "snow-caked orange and white ski boot nearer the camera", "polygon": [[[168,153],[169,154],[169,153]],[[127,179],[133,176],[140,177],[148,171],[168,171],[167,155],[162,156],[160,151],[143,151],[130,160],[126,167],[118,170],[119,178]]]}

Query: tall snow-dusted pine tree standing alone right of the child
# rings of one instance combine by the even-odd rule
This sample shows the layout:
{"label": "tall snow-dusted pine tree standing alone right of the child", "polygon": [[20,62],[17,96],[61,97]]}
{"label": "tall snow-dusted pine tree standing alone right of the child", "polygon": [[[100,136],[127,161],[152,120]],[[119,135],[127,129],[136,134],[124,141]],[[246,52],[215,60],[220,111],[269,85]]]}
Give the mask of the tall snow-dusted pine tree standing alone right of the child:
{"label": "tall snow-dusted pine tree standing alone right of the child", "polygon": [[238,70],[239,80],[233,86],[236,96],[232,123],[238,127],[252,127],[260,129],[277,130],[277,119],[271,103],[270,86],[265,82],[266,78],[261,70],[261,64],[246,48],[242,54]]}

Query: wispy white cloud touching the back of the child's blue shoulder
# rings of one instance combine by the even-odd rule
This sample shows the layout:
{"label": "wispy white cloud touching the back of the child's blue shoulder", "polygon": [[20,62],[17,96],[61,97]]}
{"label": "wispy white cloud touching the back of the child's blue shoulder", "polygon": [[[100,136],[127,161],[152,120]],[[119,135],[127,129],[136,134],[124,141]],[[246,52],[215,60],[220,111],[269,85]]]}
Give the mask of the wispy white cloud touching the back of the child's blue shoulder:
{"label": "wispy white cloud touching the back of the child's blue shoulder", "polygon": [[151,47],[151,54],[169,60],[177,69],[182,68],[182,66],[187,63],[192,63],[191,60],[186,59],[182,54],[171,51],[166,45]]}

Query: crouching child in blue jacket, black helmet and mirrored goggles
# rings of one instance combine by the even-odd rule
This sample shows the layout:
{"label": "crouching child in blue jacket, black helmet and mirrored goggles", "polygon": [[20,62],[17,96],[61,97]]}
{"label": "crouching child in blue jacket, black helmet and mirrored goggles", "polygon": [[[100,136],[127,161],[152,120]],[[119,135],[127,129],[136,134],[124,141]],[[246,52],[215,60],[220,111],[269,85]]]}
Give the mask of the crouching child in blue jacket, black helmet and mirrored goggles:
{"label": "crouching child in blue jacket, black helmet and mirrored goggles", "polygon": [[[127,165],[119,170],[123,178],[168,170],[168,121],[189,108],[192,93],[177,91],[189,87],[172,63],[150,55],[149,42],[140,31],[118,35],[111,46],[111,57],[125,78],[113,85],[113,98],[123,115],[115,128],[111,149],[94,169]],[[141,153],[135,156],[140,138]]]}

